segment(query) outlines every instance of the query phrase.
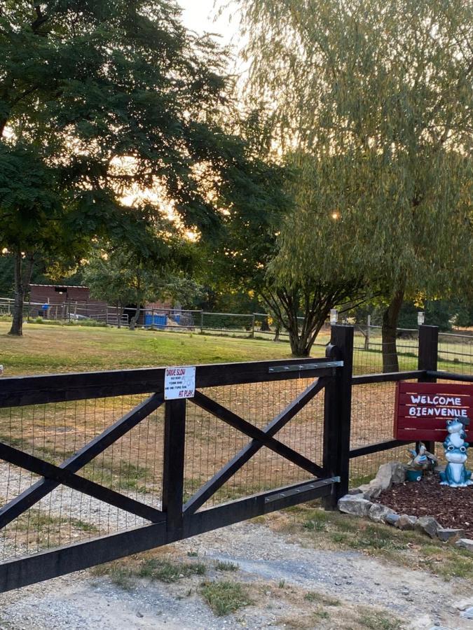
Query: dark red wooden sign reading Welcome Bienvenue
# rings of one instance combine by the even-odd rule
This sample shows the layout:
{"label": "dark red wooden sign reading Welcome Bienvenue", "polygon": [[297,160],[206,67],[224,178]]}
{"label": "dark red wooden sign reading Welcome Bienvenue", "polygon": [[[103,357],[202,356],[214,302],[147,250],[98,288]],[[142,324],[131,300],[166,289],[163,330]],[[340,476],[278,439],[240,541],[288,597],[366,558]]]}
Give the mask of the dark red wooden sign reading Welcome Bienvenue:
{"label": "dark red wooden sign reading Welcome Bienvenue", "polygon": [[394,426],[397,440],[444,442],[448,435],[446,423],[454,419],[465,424],[467,441],[473,442],[472,385],[397,383]]}

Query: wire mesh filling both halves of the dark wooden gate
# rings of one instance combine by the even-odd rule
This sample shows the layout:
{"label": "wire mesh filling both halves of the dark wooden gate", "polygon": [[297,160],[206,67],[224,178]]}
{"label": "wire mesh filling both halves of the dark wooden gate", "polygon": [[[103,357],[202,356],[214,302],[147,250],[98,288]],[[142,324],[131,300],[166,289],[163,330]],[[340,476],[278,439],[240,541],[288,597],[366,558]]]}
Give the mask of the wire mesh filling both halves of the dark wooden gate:
{"label": "wire mesh filling both halves of the dark wooden gate", "polygon": [[[201,392],[263,429],[313,383],[287,379],[218,387]],[[0,442],[61,466],[80,449],[148,398],[147,394],[50,402],[0,409]],[[275,437],[322,466],[324,395],[316,395]],[[250,438],[188,400],[184,460],[184,502],[245,447]],[[128,498],[161,509],[165,452],[164,405],[137,423],[77,475]],[[262,446],[200,509],[254,493],[313,479],[309,472]],[[0,498],[8,507],[43,477],[1,461]],[[2,510],[3,511],[3,510]],[[1,521],[0,524],[4,524]],[[97,535],[148,524],[145,519],[67,485],[46,493],[0,532],[0,557],[13,559],[70,545]]]}

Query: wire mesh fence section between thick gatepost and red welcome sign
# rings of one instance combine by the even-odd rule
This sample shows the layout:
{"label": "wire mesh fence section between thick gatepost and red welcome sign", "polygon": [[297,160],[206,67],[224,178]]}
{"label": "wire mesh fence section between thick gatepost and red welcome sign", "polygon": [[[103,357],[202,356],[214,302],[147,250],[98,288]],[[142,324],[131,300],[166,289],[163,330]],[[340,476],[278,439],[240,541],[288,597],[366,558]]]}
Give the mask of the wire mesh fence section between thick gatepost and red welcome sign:
{"label": "wire mesh fence section between thick gatepost and red welcome sign", "polygon": [[[415,381],[413,381],[415,382]],[[369,446],[393,439],[396,384],[369,383],[352,388],[352,426],[350,448]],[[350,461],[350,486],[369,482],[387,461],[407,463],[407,449],[413,444],[353,458]]]}

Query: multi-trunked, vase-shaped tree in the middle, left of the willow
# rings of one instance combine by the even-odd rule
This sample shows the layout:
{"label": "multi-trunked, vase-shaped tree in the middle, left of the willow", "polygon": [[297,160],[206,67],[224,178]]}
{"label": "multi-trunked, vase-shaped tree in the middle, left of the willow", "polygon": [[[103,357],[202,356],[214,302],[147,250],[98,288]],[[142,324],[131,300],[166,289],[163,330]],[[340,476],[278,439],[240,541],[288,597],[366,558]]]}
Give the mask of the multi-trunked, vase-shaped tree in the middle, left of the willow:
{"label": "multi-trunked, vase-shaped tree in the middle, left of the willow", "polygon": [[[264,125],[261,133],[264,136]],[[255,146],[254,139],[252,146],[260,154],[270,153],[268,146]],[[289,332],[295,356],[310,354],[330,309],[348,311],[367,296],[362,273],[341,264],[352,235],[338,224],[333,200],[315,198],[315,178],[317,162],[312,156],[286,155],[280,168],[273,169],[272,202],[249,214],[228,213],[220,255],[211,253],[205,267],[217,286],[256,295],[259,309],[270,313],[277,330]],[[301,226],[308,214],[309,229],[317,230],[320,246],[306,253],[305,264],[294,273],[290,261],[299,252],[290,248],[298,250],[313,238]]]}

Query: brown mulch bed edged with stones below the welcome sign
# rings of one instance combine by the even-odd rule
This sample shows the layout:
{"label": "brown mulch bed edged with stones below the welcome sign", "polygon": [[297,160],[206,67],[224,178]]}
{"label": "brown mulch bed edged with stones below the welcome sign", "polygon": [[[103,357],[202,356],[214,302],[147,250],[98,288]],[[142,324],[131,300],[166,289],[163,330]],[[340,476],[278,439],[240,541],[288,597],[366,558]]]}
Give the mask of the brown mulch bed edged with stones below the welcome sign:
{"label": "brown mulch bed edged with stones below the welcome sign", "polygon": [[398,514],[433,516],[443,527],[464,529],[473,538],[473,486],[441,486],[437,475],[425,475],[420,482],[396,484],[376,499]]}

